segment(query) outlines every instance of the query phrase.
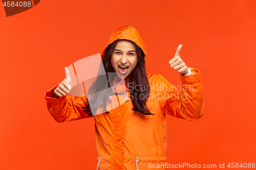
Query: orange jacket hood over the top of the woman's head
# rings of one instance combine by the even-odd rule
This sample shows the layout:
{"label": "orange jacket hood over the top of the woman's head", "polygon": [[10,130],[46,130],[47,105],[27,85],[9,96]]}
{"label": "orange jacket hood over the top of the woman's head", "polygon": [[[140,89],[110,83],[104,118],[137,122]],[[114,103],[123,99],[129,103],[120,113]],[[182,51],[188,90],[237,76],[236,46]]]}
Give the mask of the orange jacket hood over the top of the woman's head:
{"label": "orange jacket hood over the top of the woman's head", "polygon": [[105,54],[105,50],[106,48],[108,48],[108,46],[110,44],[112,44],[114,41],[118,40],[118,39],[127,39],[127,40],[131,40],[133,42],[135,42],[144,52],[145,56],[145,62],[146,62],[146,48],[145,45],[142,41],[142,38],[139,34],[139,32],[133,28],[132,26],[121,26],[119,28],[117,28],[110,36],[108,42],[105,45],[105,49],[103,50],[102,54],[101,54],[101,59],[103,59],[104,54]]}

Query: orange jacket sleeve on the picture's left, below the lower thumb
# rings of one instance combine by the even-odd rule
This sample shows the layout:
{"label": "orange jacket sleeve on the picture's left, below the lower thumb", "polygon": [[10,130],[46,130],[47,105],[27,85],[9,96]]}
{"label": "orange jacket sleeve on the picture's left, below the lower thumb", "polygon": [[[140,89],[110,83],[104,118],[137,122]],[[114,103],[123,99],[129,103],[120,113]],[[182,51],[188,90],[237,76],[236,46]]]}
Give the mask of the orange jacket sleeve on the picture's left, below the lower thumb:
{"label": "orange jacket sleeve on the picture's left, below the lower thumb", "polygon": [[[57,85],[58,86],[58,85]],[[54,90],[57,86],[46,91],[44,98],[46,99],[47,109],[56,122],[67,122],[82,118],[92,117],[79,107],[86,106],[87,97],[85,96],[61,96],[59,99],[54,98]]]}

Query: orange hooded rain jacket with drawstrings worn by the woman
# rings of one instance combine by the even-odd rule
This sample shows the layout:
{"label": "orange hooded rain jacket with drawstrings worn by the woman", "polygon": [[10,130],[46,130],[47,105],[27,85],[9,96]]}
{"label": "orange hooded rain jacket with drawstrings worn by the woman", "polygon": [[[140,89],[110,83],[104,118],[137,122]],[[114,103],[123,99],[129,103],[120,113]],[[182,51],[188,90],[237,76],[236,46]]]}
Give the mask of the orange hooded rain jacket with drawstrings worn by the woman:
{"label": "orange hooded rain jacket with drawstrings worn by the woman", "polygon": [[[106,44],[117,39],[134,41],[147,57],[146,48],[138,31],[130,26],[123,26],[113,32]],[[105,47],[105,49],[106,49]],[[103,58],[105,49],[101,55]],[[132,100],[125,101],[126,94],[110,99],[109,113],[97,114],[95,135],[97,147],[97,169],[166,169],[155,167],[166,163],[167,126],[166,114],[187,120],[196,120],[203,115],[203,97],[200,71],[191,68],[192,75],[180,75],[182,91],[176,89],[159,74],[147,74],[150,83],[150,96],[146,102],[148,109],[155,115],[144,115],[133,111]],[[114,82],[113,82],[114,85]],[[56,122],[67,122],[92,117],[79,107],[84,107],[85,96],[61,96],[56,99],[54,90],[58,85],[46,91],[44,98],[47,108]],[[115,86],[117,92],[123,86]],[[125,86],[124,86],[125,87]],[[120,100],[124,101],[120,105]]]}

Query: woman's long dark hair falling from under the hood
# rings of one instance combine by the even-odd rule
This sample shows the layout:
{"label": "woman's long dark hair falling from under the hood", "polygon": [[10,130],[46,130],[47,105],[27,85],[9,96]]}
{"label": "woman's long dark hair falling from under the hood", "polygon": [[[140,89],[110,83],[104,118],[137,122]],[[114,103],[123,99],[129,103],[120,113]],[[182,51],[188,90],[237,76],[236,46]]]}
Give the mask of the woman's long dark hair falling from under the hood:
{"label": "woman's long dark hair falling from under the hood", "polygon": [[[90,105],[89,105],[89,102],[87,101],[85,102],[86,106],[81,107],[84,109],[83,111],[86,113],[89,113],[92,115],[92,111],[95,113],[98,108],[102,108],[102,107],[105,112],[109,113],[106,110],[106,103],[108,101],[109,94],[115,94],[113,90],[111,90],[110,88],[112,87],[112,82],[115,76],[113,76],[114,74],[108,74],[108,72],[115,72],[114,68],[110,63],[110,59],[112,57],[112,54],[114,53],[114,49],[118,41],[119,40],[116,40],[113,43],[111,43],[105,50],[105,54],[102,59],[103,67],[100,67],[98,70],[98,75],[103,75],[103,76],[97,76],[97,79],[94,81],[94,83],[91,85],[88,91],[87,98],[88,98],[88,101],[90,101]],[[138,64],[134,68],[133,72],[131,72],[131,74],[124,79],[125,85],[128,87],[127,89],[129,89],[130,91],[130,96],[133,102],[134,108],[132,110],[139,111],[140,113],[145,115],[154,115],[150,112],[150,110],[146,106],[147,98],[145,96],[150,95],[150,85],[146,77],[145,59],[144,59],[145,54],[135,42],[131,40],[129,41],[136,46],[136,52],[138,57]],[[104,75],[104,72],[106,72],[106,76]],[[127,85],[128,80],[129,80],[129,84],[128,84],[129,86]],[[135,85],[139,86],[139,89],[137,87],[135,88]],[[104,90],[104,89],[110,89],[110,90]],[[122,91],[117,94],[124,94],[124,93],[126,93],[126,91]],[[100,95],[104,97],[99,98]],[[140,98],[141,95],[143,96],[143,98]]]}

